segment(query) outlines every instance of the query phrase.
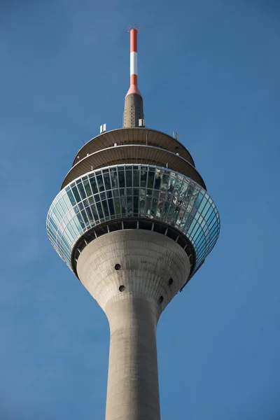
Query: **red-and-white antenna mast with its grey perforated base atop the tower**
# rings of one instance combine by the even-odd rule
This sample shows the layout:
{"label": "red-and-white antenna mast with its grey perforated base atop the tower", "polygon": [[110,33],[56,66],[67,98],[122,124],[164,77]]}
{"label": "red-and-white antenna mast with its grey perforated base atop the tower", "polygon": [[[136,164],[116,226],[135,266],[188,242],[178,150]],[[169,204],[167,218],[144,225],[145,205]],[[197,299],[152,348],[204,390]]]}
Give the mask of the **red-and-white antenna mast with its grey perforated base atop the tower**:
{"label": "red-and-white antenna mast with its grey perforated base atop the tower", "polygon": [[123,126],[127,128],[143,127],[145,125],[143,99],[138,87],[137,69],[137,35],[140,31],[140,27],[139,25],[134,23],[132,25],[129,25],[127,31],[130,32],[130,88],[125,97],[125,112],[123,115]]}

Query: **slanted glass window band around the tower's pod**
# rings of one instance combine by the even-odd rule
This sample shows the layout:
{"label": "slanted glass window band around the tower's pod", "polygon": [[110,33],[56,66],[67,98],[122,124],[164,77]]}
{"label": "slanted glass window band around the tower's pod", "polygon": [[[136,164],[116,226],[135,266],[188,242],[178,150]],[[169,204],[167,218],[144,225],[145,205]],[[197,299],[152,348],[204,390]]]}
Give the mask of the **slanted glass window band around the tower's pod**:
{"label": "slanted glass window band around the tower's pod", "polygon": [[172,169],[114,165],[88,172],[63,188],[50,206],[48,237],[70,269],[81,237],[102,223],[152,219],[177,230],[195,250],[192,275],[216,244],[218,210],[207,191]]}

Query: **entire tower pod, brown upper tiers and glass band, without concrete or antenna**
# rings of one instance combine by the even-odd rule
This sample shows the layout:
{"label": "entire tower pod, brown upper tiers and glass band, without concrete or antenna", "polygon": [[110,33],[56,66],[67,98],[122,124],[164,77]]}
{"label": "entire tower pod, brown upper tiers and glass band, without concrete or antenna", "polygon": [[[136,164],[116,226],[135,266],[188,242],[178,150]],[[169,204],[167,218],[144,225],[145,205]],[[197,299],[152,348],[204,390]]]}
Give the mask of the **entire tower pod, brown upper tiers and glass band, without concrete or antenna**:
{"label": "entire tower pod, brown upper tiers and glass band, without concrete or antenna", "polygon": [[168,134],[134,127],[94,137],[78,151],[48,212],[52,246],[76,275],[90,241],[125,229],[174,239],[190,260],[186,283],[216,244],[218,210],[188,149]]}

